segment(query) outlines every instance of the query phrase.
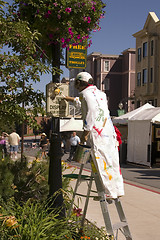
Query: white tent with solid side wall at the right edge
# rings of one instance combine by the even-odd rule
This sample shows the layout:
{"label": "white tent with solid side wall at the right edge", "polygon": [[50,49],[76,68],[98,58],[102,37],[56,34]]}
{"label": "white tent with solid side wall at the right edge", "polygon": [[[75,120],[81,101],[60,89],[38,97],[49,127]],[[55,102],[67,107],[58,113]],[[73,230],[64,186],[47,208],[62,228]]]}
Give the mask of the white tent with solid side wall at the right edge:
{"label": "white tent with solid side wall at the right edge", "polygon": [[160,107],[143,109],[128,120],[128,162],[151,166],[152,123],[160,124]]}

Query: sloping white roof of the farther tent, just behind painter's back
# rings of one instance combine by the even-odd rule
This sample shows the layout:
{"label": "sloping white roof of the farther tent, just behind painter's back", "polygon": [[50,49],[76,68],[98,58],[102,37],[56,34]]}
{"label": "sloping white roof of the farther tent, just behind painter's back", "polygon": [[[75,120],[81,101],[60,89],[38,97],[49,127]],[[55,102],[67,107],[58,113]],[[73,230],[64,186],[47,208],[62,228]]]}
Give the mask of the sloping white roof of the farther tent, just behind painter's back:
{"label": "sloping white roof of the farther tent, just behind painter's back", "polygon": [[141,113],[143,110],[145,109],[150,109],[150,108],[154,108],[151,104],[149,103],[146,103],[144,104],[143,106],[131,111],[131,112],[128,112],[122,116],[119,116],[119,117],[115,117],[113,119],[113,124],[127,124],[128,123],[128,120],[131,119],[132,117],[136,117],[137,114]]}

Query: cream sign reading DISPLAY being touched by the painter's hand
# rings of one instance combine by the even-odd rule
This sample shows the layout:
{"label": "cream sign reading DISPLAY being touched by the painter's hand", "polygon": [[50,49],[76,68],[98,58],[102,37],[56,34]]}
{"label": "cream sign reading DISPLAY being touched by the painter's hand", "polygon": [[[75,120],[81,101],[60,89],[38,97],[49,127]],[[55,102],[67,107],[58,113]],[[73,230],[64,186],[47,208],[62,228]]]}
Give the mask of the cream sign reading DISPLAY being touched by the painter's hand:
{"label": "cream sign reading DISPLAY being touched by the painter's hand", "polygon": [[[56,94],[56,89],[60,89]],[[49,83],[46,85],[46,112],[53,117],[69,115],[69,103],[62,98],[69,95],[69,86],[66,83]]]}

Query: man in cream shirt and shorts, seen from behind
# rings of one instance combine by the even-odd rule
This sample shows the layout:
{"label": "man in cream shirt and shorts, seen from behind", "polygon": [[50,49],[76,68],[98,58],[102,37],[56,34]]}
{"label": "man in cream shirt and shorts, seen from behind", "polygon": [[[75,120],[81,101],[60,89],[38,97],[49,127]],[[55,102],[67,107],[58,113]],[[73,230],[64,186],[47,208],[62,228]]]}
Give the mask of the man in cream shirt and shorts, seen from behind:
{"label": "man in cream shirt and shorts, seen from behind", "polygon": [[8,142],[10,144],[10,158],[15,157],[17,159],[18,145],[20,142],[20,136],[14,130],[8,137]]}

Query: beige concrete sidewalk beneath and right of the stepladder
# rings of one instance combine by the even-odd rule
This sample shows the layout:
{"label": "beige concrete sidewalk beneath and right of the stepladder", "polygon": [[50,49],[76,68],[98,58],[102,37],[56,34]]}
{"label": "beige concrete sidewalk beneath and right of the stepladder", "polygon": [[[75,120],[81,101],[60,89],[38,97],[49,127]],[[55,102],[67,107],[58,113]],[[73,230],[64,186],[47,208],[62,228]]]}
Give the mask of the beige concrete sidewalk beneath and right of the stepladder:
{"label": "beige concrete sidewalk beneath and right of the stepladder", "polygon": [[[67,169],[65,174],[71,173],[73,170],[74,173],[79,173],[78,166],[73,166],[72,163],[69,163],[69,165],[71,168]],[[84,169],[82,174],[90,175],[90,170]],[[71,181],[73,189],[75,183],[76,180]],[[159,240],[160,194],[130,185],[128,183],[125,183],[124,186],[125,196],[121,198],[121,202],[128,220],[133,240]],[[92,189],[96,190],[94,183]],[[86,194],[86,191],[87,184],[86,182],[82,182],[78,188],[78,192]],[[82,201],[79,201],[79,207],[83,210],[85,198],[81,199]],[[113,204],[109,206],[109,212],[111,213],[112,223],[114,224],[119,222]],[[86,218],[92,222],[96,222],[98,227],[105,226],[100,204],[92,198],[89,200]],[[125,237],[119,231],[118,240],[124,239]]]}

